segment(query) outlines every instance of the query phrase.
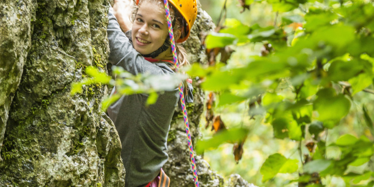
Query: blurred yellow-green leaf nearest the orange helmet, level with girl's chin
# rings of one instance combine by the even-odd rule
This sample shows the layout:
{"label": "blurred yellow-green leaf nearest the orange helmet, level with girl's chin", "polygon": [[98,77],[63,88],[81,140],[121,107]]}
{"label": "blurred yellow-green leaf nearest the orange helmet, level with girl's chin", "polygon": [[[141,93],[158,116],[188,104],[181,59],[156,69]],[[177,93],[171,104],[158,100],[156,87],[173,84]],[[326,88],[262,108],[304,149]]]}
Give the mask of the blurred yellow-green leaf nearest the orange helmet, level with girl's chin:
{"label": "blurred yellow-green leaf nearest the orange helmet, level with girl's chin", "polygon": [[235,44],[235,41],[238,38],[234,35],[227,34],[227,33],[215,33],[212,32],[206,37],[206,48],[212,49],[216,47],[224,47],[226,45]]}

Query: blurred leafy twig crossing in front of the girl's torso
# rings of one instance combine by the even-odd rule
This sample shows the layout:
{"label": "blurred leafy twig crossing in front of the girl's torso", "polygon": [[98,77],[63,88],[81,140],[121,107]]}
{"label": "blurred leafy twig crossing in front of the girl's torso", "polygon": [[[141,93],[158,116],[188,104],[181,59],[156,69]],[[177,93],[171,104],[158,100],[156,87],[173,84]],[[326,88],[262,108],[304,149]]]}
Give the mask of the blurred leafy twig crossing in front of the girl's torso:
{"label": "blurred leafy twig crossing in front of the girl's torso", "polygon": [[92,84],[107,84],[114,87],[113,92],[109,97],[102,102],[102,111],[106,111],[108,107],[118,100],[122,95],[131,95],[136,93],[147,93],[149,97],[146,105],[151,105],[156,102],[158,94],[164,91],[173,91],[180,85],[181,81],[186,79],[186,75],[150,75],[138,74],[132,75],[124,70],[122,67],[112,66],[112,76],[107,75],[104,70],[94,66],[89,66],[85,69],[88,77],[79,82],[72,84],[71,94],[81,93],[87,85]]}

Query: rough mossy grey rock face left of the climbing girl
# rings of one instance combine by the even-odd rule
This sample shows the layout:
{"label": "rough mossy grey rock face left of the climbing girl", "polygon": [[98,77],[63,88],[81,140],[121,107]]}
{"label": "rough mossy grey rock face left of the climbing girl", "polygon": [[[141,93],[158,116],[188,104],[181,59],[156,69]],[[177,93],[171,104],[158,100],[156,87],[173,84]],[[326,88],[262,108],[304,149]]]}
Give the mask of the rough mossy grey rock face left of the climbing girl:
{"label": "rough mossy grey rock face left of the climbing girl", "polygon": [[86,66],[105,71],[109,3],[5,0],[0,7],[0,186],[123,186],[121,144],[100,110],[103,85],[70,95]]}

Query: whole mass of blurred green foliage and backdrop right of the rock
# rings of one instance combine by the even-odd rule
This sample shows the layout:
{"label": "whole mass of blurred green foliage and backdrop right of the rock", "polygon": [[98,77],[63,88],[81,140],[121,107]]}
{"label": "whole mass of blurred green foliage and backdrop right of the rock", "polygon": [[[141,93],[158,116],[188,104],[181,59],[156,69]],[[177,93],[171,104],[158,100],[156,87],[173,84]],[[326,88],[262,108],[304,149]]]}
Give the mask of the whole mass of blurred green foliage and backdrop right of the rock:
{"label": "whole mass of blurred green foliage and backdrop right of the rock", "polygon": [[257,186],[373,187],[374,3],[202,5],[220,27],[206,37],[206,47],[235,52],[227,64],[218,55],[215,66],[193,65],[188,74],[203,77],[202,88],[217,93],[214,112],[228,129],[250,129],[239,165],[232,146],[223,144],[205,151],[211,167]]}

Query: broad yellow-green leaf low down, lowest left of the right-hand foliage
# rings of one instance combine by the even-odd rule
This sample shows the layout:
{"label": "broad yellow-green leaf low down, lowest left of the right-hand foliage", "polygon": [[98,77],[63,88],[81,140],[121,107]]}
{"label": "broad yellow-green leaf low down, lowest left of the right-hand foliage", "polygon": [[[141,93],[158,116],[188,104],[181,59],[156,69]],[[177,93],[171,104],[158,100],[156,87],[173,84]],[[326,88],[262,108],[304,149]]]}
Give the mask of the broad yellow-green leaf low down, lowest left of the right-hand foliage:
{"label": "broad yellow-green leaf low down, lowest left of the right-hand foliage", "polygon": [[262,164],[262,182],[273,178],[277,173],[293,173],[298,170],[298,160],[289,160],[280,153],[270,155]]}

